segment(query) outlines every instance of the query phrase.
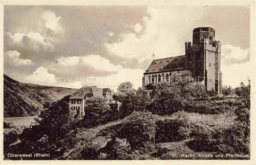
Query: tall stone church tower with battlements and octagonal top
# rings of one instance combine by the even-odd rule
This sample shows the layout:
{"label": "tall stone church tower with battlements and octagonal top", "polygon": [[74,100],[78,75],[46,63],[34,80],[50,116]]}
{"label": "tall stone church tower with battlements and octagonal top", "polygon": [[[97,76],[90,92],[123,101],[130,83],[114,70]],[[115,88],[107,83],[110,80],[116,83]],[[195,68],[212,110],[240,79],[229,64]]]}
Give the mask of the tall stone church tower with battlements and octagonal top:
{"label": "tall stone church tower with battlements and octagonal top", "polygon": [[193,30],[193,43],[185,42],[186,70],[207,90],[221,94],[221,42],[215,40],[215,29],[199,27]]}

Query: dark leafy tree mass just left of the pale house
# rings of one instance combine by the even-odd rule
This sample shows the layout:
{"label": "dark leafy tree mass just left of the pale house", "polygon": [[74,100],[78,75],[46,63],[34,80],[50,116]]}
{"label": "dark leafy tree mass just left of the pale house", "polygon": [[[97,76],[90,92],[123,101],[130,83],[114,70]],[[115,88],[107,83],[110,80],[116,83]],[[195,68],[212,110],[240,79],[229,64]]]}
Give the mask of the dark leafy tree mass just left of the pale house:
{"label": "dark leafy tree mass just left of the pale house", "polygon": [[36,121],[36,125],[24,129],[20,134],[20,139],[33,146],[42,136],[47,136],[50,144],[54,144],[58,139],[65,136],[75,123],[69,113],[69,97],[66,96],[57,102],[49,105],[41,111]]}

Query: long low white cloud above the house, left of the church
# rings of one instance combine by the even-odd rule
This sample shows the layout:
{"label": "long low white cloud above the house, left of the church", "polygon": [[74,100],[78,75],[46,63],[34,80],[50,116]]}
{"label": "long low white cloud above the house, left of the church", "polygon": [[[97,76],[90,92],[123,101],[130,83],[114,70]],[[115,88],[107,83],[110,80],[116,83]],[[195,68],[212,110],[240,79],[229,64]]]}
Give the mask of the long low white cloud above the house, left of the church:
{"label": "long low white cloud above the house, left of the church", "polygon": [[124,81],[132,82],[136,88],[142,84],[144,70],[113,65],[99,55],[61,57],[57,61],[46,68],[55,75],[59,86],[80,88],[96,85],[116,89]]}

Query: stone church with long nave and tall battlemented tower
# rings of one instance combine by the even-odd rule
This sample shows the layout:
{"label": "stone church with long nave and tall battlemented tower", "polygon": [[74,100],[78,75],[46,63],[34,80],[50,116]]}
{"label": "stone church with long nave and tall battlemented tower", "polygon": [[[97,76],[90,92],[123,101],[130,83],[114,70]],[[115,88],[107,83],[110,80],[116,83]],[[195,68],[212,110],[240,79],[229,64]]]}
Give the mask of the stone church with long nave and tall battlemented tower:
{"label": "stone church with long nave and tall battlemented tower", "polygon": [[189,70],[207,90],[221,95],[221,41],[215,39],[214,28],[195,28],[193,43],[185,42],[185,55],[153,60],[143,74],[142,86],[173,82],[173,75],[184,70]]}

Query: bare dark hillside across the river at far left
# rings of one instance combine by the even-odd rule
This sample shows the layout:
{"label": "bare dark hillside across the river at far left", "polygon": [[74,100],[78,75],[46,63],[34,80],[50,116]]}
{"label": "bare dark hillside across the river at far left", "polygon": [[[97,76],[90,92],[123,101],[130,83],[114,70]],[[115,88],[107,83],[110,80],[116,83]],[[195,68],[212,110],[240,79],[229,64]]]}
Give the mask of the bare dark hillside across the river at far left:
{"label": "bare dark hillside across the river at far left", "polygon": [[37,115],[45,103],[55,102],[76,89],[20,83],[4,75],[4,117]]}

